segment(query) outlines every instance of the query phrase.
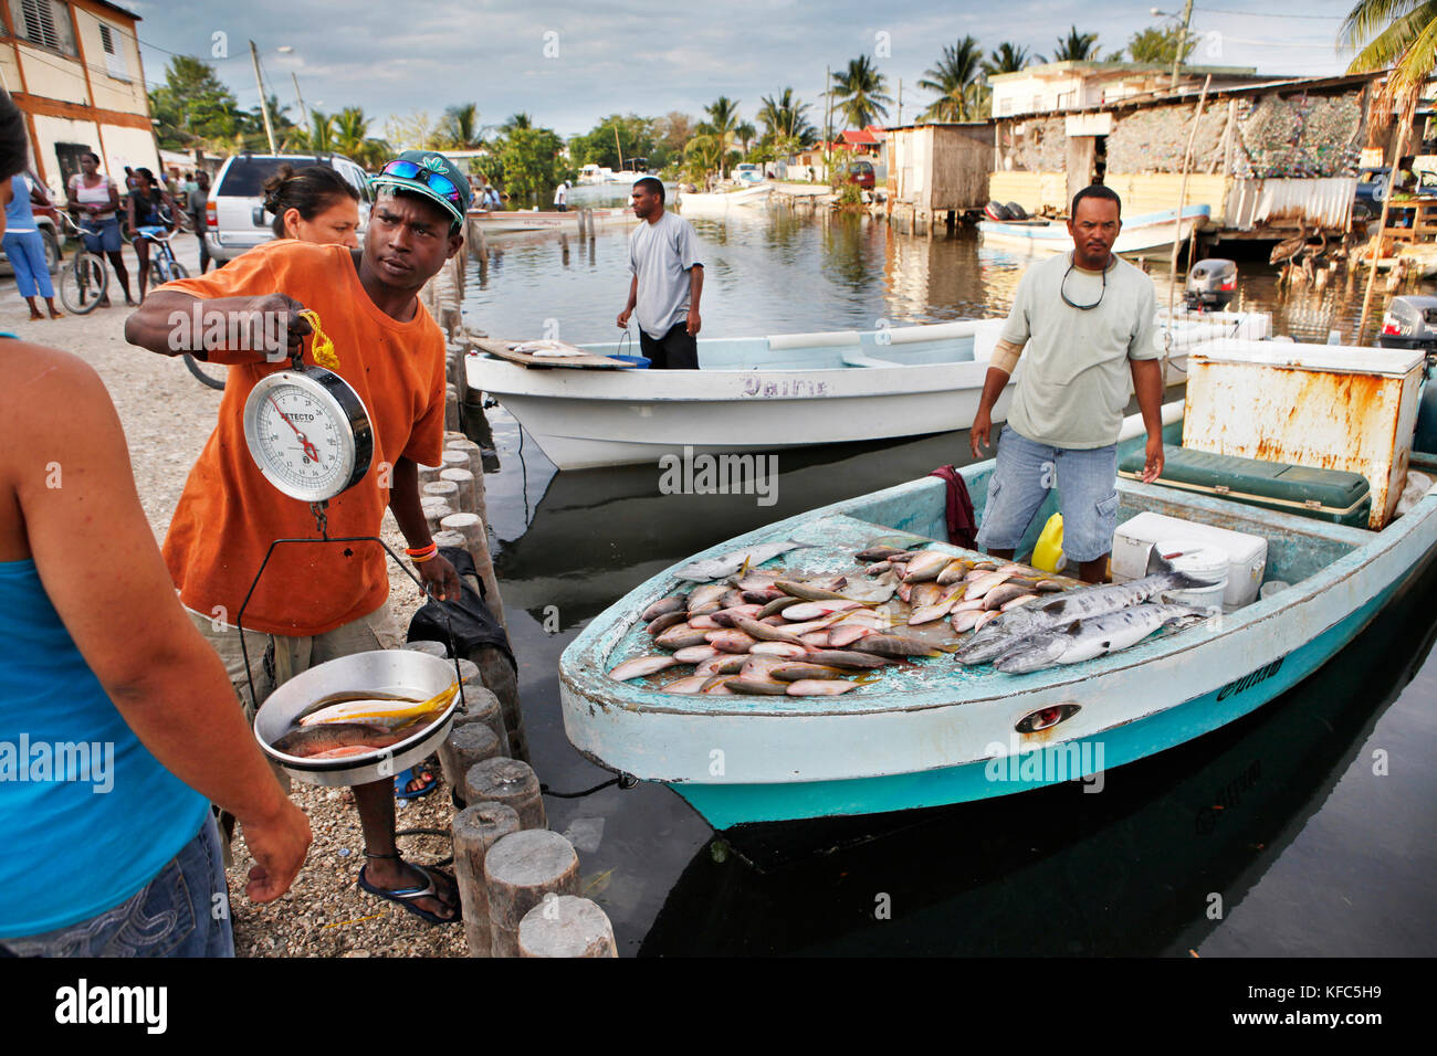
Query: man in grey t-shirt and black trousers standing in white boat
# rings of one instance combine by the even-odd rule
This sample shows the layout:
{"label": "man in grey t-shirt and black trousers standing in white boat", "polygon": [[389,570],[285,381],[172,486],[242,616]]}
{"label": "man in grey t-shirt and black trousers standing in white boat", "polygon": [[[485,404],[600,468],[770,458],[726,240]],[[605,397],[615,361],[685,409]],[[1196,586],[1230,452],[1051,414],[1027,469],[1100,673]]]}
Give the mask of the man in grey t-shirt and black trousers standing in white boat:
{"label": "man in grey t-shirt and black trousers standing in white boat", "polygon": [[654,177],[634,181],[634,216],[644,223],[629,236],[634,279],[619,312],[619,329],[627,330],[634,315],[642,355],[655,368],[697,371],[704,266],[694,227],[664,210],[664,184]]}

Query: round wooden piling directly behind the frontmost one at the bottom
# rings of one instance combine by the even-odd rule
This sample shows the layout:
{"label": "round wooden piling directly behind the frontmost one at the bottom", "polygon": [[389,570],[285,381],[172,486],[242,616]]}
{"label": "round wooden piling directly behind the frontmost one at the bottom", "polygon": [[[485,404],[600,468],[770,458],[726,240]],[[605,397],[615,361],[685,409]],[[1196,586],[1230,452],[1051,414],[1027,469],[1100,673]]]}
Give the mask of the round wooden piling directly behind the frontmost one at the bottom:
{"label": "round wooden piling directly behind the frontmost one at the bottom", "polygon": [[545,895],[579,894],[579,856],[558,832],[513,832],[484,855],[494,957],[519,955],[519,924]]}

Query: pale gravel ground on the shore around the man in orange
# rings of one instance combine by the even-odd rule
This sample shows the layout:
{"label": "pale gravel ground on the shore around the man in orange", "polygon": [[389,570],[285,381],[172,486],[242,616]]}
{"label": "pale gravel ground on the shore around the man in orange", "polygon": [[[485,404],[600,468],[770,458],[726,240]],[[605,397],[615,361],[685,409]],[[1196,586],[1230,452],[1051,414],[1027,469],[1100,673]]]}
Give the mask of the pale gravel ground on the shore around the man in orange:
{"label": "pale gravel ground on the shore around the man in orange", "polygon": [[[193,236],[177,238],[180,263],[198,273],[198,246]],[[125,250],[135,276],[132,250]],[[125,343],[128,310],[115,286],[115,307],[96,309],[88,316],[30,322],[29,307],[10,277],[0,279],[0,329],[43,345],[80,355],[109,388],[129,441],[135,486],[155,540],[164,539],[190,467],[214,428],[220,394],[190,376],[178,359],[167,359]],[[59,303],[59,300],[56,300]],[[63,310],[63,306],[60,307]],[[391,547],[402,547],[392,517],[385,514],[382,536]],[[391,601],[401,626],[418,608],[414,583],[391,562]],[[438,767],[434,767],[438,773]],[[374,898],[355,886],[364,862],[359,819],[345,805],[341,789],[296,784],[292,797],[309,815],[315,842],[295,886],[270,905],[256,905],[244,897],[244,881],[253,859],[243,840],[236,840],[230,869],[234,945],[240,957],[463,957],[460,927],[431,927],[398,905]],[[444,829],[453,807],[443,789],[424,799],[398,802],[398,828]],[[450,853],[448,839],[414,836],[399,839],[401,851],[421,863]]]}

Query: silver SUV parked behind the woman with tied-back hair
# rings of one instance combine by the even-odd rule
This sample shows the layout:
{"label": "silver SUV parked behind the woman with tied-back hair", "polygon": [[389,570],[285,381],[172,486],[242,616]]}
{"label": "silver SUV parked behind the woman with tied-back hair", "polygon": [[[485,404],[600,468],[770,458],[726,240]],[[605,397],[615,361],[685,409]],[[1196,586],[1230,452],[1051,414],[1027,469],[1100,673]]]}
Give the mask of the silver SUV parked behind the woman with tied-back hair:
{"label": "silver SUV parked behind the woman with tied-back hair", "polygon": [[220,167],[205,203],[204,240],[218,261],[274,240],[274,217],[264,213],[264,181],[289,162],[296,170],[329,165],[359,191],[359,231],[369,223],[374,191],[365,171],[339,154],[236,154]]}

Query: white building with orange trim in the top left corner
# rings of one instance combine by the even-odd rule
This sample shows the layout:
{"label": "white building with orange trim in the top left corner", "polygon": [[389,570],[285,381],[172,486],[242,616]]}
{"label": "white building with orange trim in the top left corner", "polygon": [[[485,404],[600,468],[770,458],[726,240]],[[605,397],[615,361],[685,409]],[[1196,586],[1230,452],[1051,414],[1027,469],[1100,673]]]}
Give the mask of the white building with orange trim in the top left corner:
{"label": "white building with orange trim in the top left corner", "polygon": [[119,181],[125,165],[160,171],[139,16],[106,0],[0,0],[0,82],[24,112],[36,172],[52,191],[91,151]]}

